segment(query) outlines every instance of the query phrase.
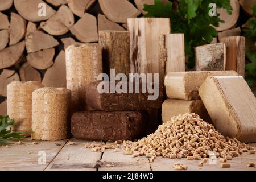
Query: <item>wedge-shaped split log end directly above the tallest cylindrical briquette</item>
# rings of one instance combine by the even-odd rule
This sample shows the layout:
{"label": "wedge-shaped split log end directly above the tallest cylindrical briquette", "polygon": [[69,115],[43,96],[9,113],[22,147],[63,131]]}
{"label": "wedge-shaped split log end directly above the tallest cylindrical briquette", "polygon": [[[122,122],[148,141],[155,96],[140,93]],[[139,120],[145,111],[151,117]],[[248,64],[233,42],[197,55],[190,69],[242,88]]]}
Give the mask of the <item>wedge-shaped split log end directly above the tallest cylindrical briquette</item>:
{"label": "wedge-shaped split log end directly above the tallest cylindrical briquette", "polygon": [[80,42],[90,43],[98,41],[97,20],[88,13],[85,13],[70,31]]}

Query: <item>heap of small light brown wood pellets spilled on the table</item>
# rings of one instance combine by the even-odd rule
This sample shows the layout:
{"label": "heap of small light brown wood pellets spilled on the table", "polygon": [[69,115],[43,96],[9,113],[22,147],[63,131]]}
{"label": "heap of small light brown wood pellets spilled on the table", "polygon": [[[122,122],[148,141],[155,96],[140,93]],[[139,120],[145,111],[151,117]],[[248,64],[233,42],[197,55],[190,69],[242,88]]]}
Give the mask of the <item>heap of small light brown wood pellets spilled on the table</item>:
{"label": "heap of small light brown wood pellets spilled on the table", "polygon": [[173,117],[170,121],[159,125],[155,133],[136,142],[121,143],[122,141],[116,141],[114,144],[100,146],[95,146],[93,143],[90,147],[93,151],[102,151],[105,148],[117,151],[122,147],[125,154],[134,157],[146,155],[150,158],[150,162],[154,162],[156,156],[200,160],[209,158],[212,154],[225,162],[243,152],[255,154],[253,147],[236,138],[224,137],[213,125],[203,121],[195,113]]}

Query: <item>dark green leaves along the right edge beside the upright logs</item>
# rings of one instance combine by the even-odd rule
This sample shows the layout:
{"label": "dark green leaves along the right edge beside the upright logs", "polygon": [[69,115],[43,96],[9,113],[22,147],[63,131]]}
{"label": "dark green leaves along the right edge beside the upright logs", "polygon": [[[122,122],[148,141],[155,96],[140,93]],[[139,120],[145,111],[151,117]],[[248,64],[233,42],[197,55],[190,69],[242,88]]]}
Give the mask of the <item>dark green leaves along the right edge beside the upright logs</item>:
{"label": "dark green leaves along the right edge beside the upright logs", "polygon": [[[256,45],[256,6],[253,7],[254,19],[251,19],[248,23],[249,28],[243,30],[246,39],[252,40]],[[254,51],[246,52],[246,57],[251,63],[246,64],[245,79],[251,88],[256,87],[256,53]]]}

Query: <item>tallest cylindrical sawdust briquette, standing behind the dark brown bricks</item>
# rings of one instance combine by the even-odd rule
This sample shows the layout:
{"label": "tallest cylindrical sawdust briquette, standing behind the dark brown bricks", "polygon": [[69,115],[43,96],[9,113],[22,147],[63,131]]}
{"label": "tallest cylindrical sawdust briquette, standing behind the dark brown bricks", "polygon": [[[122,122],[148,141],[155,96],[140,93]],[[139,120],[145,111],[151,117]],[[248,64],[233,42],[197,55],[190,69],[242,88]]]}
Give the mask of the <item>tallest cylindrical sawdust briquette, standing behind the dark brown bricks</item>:
{"label": "tallest cylindrical sawdust briquette, standing behind the dark brown bricks", "polygon": [[86,109],[86,88],[102,73],[99,44],[72,45],[66,49],[67,88],[72,92],[73,111]]}

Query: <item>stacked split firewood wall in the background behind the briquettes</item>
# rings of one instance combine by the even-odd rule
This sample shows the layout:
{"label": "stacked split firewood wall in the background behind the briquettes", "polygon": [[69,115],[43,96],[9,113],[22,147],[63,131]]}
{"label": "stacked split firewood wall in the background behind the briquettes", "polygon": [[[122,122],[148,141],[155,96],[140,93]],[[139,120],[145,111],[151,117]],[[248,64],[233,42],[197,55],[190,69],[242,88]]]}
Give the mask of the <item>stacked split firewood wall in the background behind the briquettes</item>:
{"label": "stacked split firewood wall in the background behind the briquettes", "polygon": [[[231,2],[231,16],[219,11],[226,22],[217,27],[220,42],[241,34],[237,27],[241,11],[243,19],[249,19],[251,6],[256,4],[250,0]],[[42,3],[46,16],[38,15]],[[154,0],[1,0],[0,114],[6,114],[7,84],[42,81],[44,86],[65,87],[65,48],[98,42],[98,31],[126,31],[127,18],[143,16],[145,3],[154,4]]]}

